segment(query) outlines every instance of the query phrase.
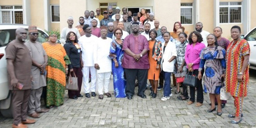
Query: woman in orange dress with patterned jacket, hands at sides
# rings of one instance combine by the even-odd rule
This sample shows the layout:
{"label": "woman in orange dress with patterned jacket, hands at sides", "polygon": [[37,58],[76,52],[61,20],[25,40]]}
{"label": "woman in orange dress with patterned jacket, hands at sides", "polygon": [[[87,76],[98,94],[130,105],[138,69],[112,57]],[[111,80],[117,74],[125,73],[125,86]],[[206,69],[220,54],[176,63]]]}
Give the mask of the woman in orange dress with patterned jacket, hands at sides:
{"label": "woman in orange dress with patterned jacket, hands at sides", "polygon": [[156,90],[158,85],[158,79],[160,75],[160,64],[161,64],[161,57],[162,57],[162,44],[160,41],[156,40],[157,33],[155,30],[149,31],[149,36],[151,40],[149,40],[149,70],[148,70],[148,79],[152,86],[152,90],[150,96],[152,98],[156,97]]}

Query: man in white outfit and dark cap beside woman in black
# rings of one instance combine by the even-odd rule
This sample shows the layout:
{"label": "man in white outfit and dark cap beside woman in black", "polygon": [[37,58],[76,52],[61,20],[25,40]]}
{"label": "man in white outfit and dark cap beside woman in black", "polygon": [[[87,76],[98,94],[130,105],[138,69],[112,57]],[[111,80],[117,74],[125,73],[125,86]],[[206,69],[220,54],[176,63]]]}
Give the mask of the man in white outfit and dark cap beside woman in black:
{"label": "man in white outfit and dark cap beside woman in black", "polygon": [[[96,96],[96,70],[94,69],[93,62],[93,48],[96,45],[95,41],[98,37],[91,35],[91,27],[88,24],[83,27],[83,30],[85,35],[79,38],[79,44],[81,45],[81,65],[83,66],[82,72],[85,96],[90,98],[91,96]],[[91,88],[89,84],[89,73],[91,73]]]}

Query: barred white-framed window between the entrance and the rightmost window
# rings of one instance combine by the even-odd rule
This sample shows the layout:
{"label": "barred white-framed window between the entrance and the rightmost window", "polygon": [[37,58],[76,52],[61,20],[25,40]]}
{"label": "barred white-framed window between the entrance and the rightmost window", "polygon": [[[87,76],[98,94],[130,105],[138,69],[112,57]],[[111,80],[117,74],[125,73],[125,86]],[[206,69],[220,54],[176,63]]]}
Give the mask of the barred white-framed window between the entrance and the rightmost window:
{"label": "barred white-framed window between the entrance and the rightmost window", "polygon": [[193,3],[180,4],[180,22],[181,24],[193,24]]}

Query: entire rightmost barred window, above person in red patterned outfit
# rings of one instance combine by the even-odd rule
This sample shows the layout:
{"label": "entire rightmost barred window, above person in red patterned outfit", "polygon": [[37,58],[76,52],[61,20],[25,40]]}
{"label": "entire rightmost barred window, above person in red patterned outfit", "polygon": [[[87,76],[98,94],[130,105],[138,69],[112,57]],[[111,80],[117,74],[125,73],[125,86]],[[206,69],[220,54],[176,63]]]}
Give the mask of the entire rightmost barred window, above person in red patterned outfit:
{"label": "entire rightmost barred window, above person in red patterned outfit", "polygon": [[219,23],[242,23],[242,2],[220,2]]}

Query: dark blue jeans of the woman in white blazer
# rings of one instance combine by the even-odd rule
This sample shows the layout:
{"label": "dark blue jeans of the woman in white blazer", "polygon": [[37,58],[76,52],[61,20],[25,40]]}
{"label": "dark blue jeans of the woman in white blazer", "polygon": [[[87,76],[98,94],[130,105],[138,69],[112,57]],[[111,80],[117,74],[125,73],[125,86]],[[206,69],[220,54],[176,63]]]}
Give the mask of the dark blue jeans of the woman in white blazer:
{"label": "dark blue jeans of the woman in white blazer", "polygon": [[165,71],[162,71],[162,73],[163,73],[163,76],[165,78],[164,97],[169,97],[170,94],[171,94],[171,88],[170,88],[170,85],[171,85],[171,73],[165,72]]}

